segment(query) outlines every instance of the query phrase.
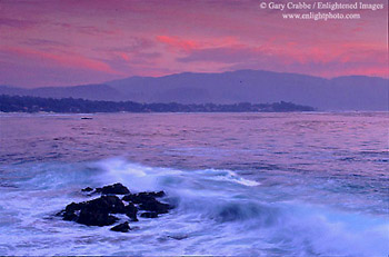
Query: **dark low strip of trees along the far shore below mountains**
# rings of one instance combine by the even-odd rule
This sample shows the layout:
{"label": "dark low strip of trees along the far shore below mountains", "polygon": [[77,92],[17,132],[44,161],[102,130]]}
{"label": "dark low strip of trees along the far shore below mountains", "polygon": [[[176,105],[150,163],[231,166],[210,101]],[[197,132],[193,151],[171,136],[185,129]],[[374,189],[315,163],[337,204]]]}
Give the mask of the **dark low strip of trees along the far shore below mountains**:
{"label": "dark low strip of trees along the far shore below mountains", "polygon": [[92,113],[92,112],[281,112],[281,111],[315,111],[309,106],[292,102],[231,105],[182,105],[170,103],[139,103],[133,101],[92,101],[74,98],[40,98],[26,96],[0,96],[0,111],[2,112],[61,112],[61,113]]}

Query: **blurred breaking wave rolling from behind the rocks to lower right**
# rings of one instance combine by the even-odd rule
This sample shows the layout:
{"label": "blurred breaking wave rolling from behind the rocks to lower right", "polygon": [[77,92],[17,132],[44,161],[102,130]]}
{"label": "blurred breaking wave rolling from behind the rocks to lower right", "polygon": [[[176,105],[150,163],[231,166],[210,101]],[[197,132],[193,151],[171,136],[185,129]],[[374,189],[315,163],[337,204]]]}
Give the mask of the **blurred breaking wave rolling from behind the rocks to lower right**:
{"label": "blurred breaking wave rolling from behind the rocks to lower right", "polygon": [[167,190],[170,201],[178,206],[177,215],[212,220],[221,230],[247,229],[246,236],[231,231],[228,237],[232,241],[249,237],[256,244],[262,237],[275,248],[302,255],[371,256],[388,251],[389,224],[385,219],[298,200],[269,202],[260,182],[231,170],[182,171],[144,167],[124,159],[104,160],[100,167],[112,177],[111,181],[120,180],[130,187],[133,184],[137,190]]}

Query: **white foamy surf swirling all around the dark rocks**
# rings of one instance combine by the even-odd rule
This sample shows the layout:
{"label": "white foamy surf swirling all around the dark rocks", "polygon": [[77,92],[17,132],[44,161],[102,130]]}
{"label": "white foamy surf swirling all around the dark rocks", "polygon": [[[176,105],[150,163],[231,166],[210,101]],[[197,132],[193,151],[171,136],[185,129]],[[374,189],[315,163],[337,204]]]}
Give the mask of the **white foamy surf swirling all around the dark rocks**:
{"label": "white foamy surf swirling all around the dark rocks", "polygon": [[[0,174],[6,184],[12,180],[16,186],[12,190],[0,187],[0,216],[4,220],[0,231],[12,230],[24,241],[41,244],[41,249],[33,251],[39,255],[385,256],[389,250],[385,218],[299,199],[269,198],[269,191],[282,195],[282,187],[273,191],[232,170],[147,167],[124,158],[13,169]],[[163,200],[177,208],[159,219],[133,224],[138,228],[128,235],[62,220],[42,221],[64,204],[83,200],[80,188],[112,182],[122,182],[133,192],[164,190]],[[53,235],[59,240],[57,246],[48,243]],[[17,237],[7,240],[20,244]],[[0,236],[0,241],[6,241],[6,236]],[[32,253],[32,247],[12,253]],[[0,255],[11,253],[1,249],[0,245]]]}

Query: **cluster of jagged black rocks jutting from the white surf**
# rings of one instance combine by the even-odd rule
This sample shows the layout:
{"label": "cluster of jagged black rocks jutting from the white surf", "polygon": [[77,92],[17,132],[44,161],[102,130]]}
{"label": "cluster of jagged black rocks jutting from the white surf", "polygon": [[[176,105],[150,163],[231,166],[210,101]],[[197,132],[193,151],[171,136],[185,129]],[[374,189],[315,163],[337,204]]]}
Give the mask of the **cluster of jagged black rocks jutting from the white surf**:
{"label": "cluster of jagged black rocks jutting from the white surf", "polygon": [[[100,197],[78,204],[71,202],[58,214],[63,220],[101,227],[116,224],[119,220],[116,214],[126,215],[130,221],[138,221],[138,211],[141,211],[142,218],[158,218],[160,214],[167,214],[173,208],[157,200],[164,197],[163,191],[131,194],[120,182],[96,189],[87,187],[81,191],[88,192],[89,196],[100,194]],[[122,198],[120,199],[118,195]],[[111,230],[127,233],[130,226],[126,221],[112,227]]]}

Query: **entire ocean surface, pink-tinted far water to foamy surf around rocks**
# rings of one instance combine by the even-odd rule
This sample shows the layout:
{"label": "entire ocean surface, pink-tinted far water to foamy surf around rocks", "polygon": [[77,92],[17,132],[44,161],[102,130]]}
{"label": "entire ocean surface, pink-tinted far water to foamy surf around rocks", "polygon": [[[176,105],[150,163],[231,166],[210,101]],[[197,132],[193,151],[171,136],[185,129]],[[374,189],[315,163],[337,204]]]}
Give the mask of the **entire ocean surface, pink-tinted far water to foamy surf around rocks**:
{"label": "entire ocean surface, pink-tinted far water to foamy surf around rocks", "polygon": [[[0,113],[0,255],[387,257],[388,118]],[[56,216],[112,182],[177,208],[128,234]]]}

